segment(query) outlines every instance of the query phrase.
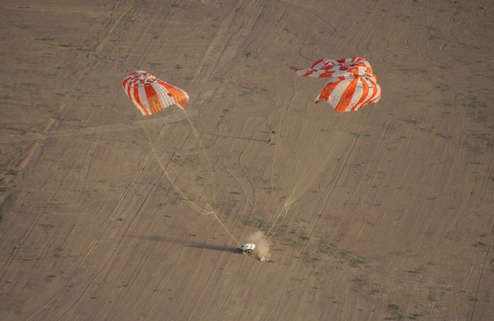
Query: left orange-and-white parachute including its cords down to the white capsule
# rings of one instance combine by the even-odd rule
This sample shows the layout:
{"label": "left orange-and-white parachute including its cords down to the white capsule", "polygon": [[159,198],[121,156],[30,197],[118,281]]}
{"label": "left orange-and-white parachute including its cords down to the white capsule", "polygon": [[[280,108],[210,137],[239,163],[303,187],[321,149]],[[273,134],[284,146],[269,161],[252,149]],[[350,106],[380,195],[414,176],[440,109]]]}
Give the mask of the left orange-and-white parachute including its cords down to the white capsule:
{"label": "left orange-and-white parachute including its cords down to the white capsule", "polygon": [[[195,210],[214,215],[214,218],[228,232],[228,235],[230,235],[238,246],[241,246],[226,226],[223,225],[223,222],[218,218],[217,213],[211,205],[211,199],[214,196],[213,166],[204,151],[202,139],[197,133],[194,122],[192,122],[185,110],[185,106],[189,102],[187,92],[167,82],[163,82],[163,80],[157,79],[154,75],[144,70],[137,70],[125,77],[122,81],[122,87],[125,94],[127,94],[130,101],[134,103],[142,115],[153,115],[173,105],[182,109],[182,114],[187,119],[196,139],[188,139],[188,144],[180,143],[180,149],[177,148],[173,151],[171,157],[168,158],[168,164],[163,163],[163,160],[161,160],[162,157],[158,149],[159,144],[155,144],[152,141],[149,128],[146,128],[144,122],[140,121],[142,131],[152,153],[156,157],[156,161],[159,163],[161,170],[163,170],[163,174],[171,183],[175,192],[180,195],[180,198],[187,201]],[[171,137],[167,141],[168,146],[177,144],[177,141],[174,141]],[[180,139],[181,141],[183,137],[176,139]],[[191,184],[193,181],[195,183]],[[255,245],[252,245],[253,250]]]}

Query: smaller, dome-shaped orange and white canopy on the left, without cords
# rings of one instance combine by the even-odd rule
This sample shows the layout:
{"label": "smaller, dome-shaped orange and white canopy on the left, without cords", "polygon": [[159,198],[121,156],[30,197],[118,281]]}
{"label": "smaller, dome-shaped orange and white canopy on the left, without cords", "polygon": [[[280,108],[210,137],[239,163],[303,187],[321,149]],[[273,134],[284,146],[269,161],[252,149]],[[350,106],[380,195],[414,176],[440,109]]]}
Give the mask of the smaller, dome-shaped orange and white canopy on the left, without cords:
{"label": "smaller, dome-shaped orange and white canopy on the left, without cords", "polygon": [[142,115],[159,113],[172,105],[185,110],[189,102],[189,95],[185,91],[143,70],[137,70],[125,77],[122,87]]}

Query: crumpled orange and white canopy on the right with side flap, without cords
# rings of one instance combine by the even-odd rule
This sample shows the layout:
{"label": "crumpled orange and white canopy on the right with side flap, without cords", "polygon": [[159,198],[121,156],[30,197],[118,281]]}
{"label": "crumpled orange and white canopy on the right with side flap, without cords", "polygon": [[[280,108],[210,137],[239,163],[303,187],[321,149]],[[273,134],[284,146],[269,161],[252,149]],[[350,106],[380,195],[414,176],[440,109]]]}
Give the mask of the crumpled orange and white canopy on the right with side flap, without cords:
{"label": "crumpled orange and white canopy on the right with side flap, without cords", "polygon": [[358,111],[368,103],[376,103],[381,98],[381,87],[372,66],[365,58],[321,59],[311,68],[297,69],[300,77],[329,78],[319,93],[316,103],[325,100],[335,111]]}

